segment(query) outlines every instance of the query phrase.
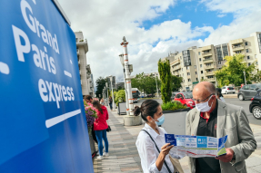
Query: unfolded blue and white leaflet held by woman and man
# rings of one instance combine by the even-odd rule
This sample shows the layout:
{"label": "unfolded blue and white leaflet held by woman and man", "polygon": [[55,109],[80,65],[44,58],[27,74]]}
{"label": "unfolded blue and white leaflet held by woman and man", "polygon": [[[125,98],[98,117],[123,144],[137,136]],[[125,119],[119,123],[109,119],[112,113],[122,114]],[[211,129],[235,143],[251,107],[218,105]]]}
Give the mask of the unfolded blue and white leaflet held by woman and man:
{"label": "unfolded blue and white leaflet held by woman and man", "polygon": [[218,157],[226,155],[227,135],[220,139],[213,137],[165,134],[166,143],[175,147],[176,155],[192,158]]}

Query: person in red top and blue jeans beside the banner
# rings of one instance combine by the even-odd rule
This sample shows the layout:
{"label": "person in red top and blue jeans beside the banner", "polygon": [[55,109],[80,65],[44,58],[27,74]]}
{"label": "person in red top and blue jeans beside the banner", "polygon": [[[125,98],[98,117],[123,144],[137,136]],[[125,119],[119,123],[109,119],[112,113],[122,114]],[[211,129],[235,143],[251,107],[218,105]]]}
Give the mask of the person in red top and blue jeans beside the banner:
{"label": "person in red top and blue jeans beside the banner", "polygon": [[[94,123],[95,136],[98,140],[98,149],[100,155],[97,159],[104,159],[104,156],[109,156],[109,143],[106,134],[106,129],[108,128],[106,120],[109,119],[109,114],[106,107],[101,105],[99,101],[93,101],[93,106],[95,107],[98,116]],[[105,141],[105,153],[103,153],[103,139]]]}

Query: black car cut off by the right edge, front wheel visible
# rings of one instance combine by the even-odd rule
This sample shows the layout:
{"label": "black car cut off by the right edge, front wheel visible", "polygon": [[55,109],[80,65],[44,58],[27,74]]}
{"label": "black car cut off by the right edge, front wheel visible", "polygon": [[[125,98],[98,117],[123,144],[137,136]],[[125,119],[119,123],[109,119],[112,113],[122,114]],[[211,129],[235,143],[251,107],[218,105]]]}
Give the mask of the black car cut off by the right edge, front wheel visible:
{"label": "black car cut off by the right edge, front wheel visible", "polygon": [[251,103],[249,104],[249,111],[256,119],[261,120],[261,90],[256,92],[256,95],[251,99]]}

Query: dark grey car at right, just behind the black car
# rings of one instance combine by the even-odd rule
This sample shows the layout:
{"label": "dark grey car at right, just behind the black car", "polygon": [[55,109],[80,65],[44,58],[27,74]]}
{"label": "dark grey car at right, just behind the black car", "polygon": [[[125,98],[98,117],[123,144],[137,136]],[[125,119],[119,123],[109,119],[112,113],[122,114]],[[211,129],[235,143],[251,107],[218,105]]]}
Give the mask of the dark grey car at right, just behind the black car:
{"label": "dark grey car at right, just behind the black car", "polygon": [[238,91],[237,98],[240,101],[251,99],[256,95],[258,89],[261,89],[261,83],[247,84]]}

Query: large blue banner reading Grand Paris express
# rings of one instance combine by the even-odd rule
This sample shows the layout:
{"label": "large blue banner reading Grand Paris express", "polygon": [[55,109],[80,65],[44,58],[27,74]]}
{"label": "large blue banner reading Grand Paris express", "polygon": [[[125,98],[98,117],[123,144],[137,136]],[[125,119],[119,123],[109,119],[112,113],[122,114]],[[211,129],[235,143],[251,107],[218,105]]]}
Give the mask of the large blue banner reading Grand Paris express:
{"label": "large blue banner reading Grand Paris express", "polygon": [[0,15],[0,172],[94,172],[74,32],[52,0]]}

